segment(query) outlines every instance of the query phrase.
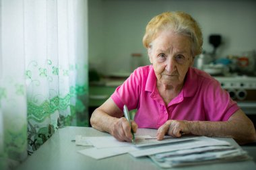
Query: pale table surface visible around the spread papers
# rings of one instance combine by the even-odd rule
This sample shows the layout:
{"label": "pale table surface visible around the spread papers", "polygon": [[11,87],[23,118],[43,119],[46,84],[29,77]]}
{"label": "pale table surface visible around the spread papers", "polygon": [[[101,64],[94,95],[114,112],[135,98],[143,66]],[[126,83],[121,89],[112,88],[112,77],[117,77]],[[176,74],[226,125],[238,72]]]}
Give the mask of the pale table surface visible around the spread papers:
{"label": "pale table surface visible around the spread papers", "polygon": [[[149,134],[154,136],[156,130],[152,129],[139,129],[138,134]],[[75,135],[82,136],[109,136],[110,134],[100,132],[94,128],[85,127],[65,127],[57,130],[53,136],[47,140],[32,156],[28,157],[17,170],[40,170],[40,169],[160,169],[154,164],[150,158],[141,157],[134,158],[131,155],[124,154],[116,157],[110,157],[101,160],[95,160],[90,157],[86,157],[77,151],[82,150],[88,146],[76,146],[75,142],[71,142],[75,138]],[[218,138],[220,140],[226,140],[235,146],[238,146],[232,138]],[[239,146],[238,146],[239,147]],[[220,169],[256,169],[256,165],[253,161],[241,161],[234,163],[214,163],[207,165],[197,165],[190,167],[179,167],[176,169],[207,169],[207,170],[220,170]]]}

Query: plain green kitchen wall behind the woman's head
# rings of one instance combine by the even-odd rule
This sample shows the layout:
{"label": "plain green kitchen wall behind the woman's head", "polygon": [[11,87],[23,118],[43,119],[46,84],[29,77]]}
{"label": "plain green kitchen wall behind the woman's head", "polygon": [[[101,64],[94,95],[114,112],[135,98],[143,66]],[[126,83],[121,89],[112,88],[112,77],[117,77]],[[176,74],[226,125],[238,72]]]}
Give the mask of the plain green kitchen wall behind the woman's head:
{"label": "plain green kitchen wall behind the woman's head", "polygon": [[253,0],[89,0],[89,62],[100,73],[131,71],[131,54],[142,54],[146,24],[164,11],[186,11],[199,22],[203,49],[212,52],[210,34],[221,34],[218,57],[256,50],[256,1]]}

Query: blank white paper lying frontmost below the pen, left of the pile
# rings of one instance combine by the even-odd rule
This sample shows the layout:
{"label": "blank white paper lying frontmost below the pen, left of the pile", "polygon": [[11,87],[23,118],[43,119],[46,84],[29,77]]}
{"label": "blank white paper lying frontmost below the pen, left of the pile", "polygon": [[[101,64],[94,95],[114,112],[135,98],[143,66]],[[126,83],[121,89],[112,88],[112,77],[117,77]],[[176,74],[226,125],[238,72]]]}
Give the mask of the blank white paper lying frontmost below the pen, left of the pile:
{"label": "blank white paper lying frontmost below the pen, left of the pile", "polygon": [[86,148],[81,151],[77,151],[86,155],[88,157],[92,157],[94,159],[104,159],[107,157],[113,157],[116,155],[121,155],[124,153],[128,153],[129,151],[135,151],[137,148],[133,146],[122,146],[122,147],[110,147],[110,148]]}

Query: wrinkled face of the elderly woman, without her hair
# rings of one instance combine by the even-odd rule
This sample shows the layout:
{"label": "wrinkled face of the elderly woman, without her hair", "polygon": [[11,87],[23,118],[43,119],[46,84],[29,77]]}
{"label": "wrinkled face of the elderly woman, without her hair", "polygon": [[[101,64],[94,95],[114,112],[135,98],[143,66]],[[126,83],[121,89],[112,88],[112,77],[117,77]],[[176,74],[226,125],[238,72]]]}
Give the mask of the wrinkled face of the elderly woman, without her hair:
{"label": "wrinkled face of the elderly woman, without her hair", "polygon": [[166,86],[183,85],[185,75],[193,65],[189,37],[164,31],[151,45],[148,55],[158,83]]}

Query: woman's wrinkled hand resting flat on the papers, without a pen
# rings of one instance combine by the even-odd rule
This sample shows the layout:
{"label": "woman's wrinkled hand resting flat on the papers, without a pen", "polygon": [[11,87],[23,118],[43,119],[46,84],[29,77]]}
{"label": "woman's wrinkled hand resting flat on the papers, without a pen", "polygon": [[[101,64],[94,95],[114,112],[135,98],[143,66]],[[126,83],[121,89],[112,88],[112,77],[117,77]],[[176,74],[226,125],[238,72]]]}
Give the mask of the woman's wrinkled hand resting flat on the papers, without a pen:
{"label": "woman's wrinkled hand resting flat on the papers, without a pen", "polygon": [[162,140],[165,134],[172,137],[181,137],[182,134],[190,133],[190,125],[186,120],[168,120],[158,128],[156,136],[158,140]]}

